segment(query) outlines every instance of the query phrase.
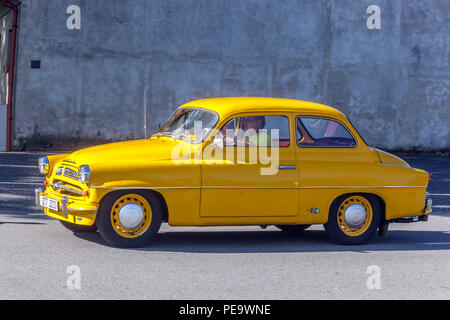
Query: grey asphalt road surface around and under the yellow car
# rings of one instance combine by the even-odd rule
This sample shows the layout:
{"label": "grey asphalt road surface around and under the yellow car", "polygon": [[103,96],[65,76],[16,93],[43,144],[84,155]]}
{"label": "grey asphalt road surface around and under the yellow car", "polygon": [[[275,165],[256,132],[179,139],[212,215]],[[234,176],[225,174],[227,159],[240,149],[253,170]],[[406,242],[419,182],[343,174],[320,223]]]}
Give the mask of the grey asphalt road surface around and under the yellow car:
{"label": "grey asphalt road surface around and under the yellow car", "polygon": [[38,153],[0,153],[0,299],[450,299],[450,158],[432,173],[428,222],[331,243],[322,226],[170,227],[141,249],[73,234],[34,207]]}

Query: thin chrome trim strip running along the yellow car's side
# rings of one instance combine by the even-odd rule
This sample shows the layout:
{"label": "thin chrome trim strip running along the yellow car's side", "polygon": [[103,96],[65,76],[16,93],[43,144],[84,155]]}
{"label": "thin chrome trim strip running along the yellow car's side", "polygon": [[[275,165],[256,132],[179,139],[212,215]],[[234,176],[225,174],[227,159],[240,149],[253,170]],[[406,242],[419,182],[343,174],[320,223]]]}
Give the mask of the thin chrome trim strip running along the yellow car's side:
{"label": "thin chrome trim strip running along the yellow car's side", "polygon": [[206,187],[101,187],[94,189],[378,189],[378,188],[427,188],[427,186],[317,186],[317,187],[238,187],[238,186],[206,186]]}

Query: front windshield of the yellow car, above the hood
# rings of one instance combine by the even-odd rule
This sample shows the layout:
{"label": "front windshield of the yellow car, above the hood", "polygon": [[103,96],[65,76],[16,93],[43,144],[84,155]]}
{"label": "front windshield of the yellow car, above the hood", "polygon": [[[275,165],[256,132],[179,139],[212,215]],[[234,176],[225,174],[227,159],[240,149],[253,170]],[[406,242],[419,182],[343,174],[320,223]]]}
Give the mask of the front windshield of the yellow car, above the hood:
{"label": "front windshield of the yellow car, above the hood", "polygon": [[199,143],[208,136],[218,119],[216,113],[204,109],[177,109],[157,136]]}

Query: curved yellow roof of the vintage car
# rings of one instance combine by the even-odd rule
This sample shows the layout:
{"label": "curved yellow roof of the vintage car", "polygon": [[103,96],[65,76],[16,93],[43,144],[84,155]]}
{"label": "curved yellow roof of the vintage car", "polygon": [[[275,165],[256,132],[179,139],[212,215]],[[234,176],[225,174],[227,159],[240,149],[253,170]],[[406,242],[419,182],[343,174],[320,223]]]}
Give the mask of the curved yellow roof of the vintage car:
{"label": "curved yellow roof of the vintage car", "polygon": [[215,111],[220,118],[238,112],[265,112],[265,111],[283,111],[283,112],[303,112],[305,114],[329,115],[335,117],[345,117],[339,110],[310,101],[267,98],[267,97],[226,97],[209,98],[187,102],[180,106],[198,107]]}

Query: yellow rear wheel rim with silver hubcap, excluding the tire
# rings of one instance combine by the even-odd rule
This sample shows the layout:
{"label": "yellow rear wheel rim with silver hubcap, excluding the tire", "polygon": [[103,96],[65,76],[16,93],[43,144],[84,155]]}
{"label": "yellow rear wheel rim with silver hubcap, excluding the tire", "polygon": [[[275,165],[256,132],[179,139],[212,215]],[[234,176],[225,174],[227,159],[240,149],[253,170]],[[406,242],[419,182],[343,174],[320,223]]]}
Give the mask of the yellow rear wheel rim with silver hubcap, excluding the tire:
{"label": "yellow rear wheel rim with silver hubcap, excluding the tire", "polygon": [[338,209],[339,229],[347,236],[357,237],[369,229],[373,219],[370,202],[362,196],[350,196]]}

